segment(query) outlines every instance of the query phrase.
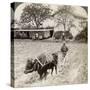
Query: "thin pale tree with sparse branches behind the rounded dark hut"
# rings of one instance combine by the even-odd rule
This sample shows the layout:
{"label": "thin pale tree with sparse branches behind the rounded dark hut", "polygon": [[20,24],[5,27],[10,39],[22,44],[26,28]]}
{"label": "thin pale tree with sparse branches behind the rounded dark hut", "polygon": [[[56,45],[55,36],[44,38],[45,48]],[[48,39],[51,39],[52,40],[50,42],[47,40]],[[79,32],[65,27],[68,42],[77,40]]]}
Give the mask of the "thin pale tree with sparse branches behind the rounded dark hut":
{"label": "thin pale tree with sparse branches behind the rounded dark hut", "polygon": [[71,13],[71,6],[62,6],[58,8],[58,11],[53,14],[57,20],[57,26],[62,24],[64,31],[70,31],[71,27],[74,27],[74,16]]}

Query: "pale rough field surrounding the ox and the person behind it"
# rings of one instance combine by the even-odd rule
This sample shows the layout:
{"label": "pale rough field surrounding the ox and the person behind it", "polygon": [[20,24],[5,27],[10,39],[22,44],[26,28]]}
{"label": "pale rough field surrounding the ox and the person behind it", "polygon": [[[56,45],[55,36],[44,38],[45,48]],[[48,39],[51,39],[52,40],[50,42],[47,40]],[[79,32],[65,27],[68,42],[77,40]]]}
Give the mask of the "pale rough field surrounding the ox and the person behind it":
{"label": "pale rough field surrounding the ox and the person behind it", "polygon": [[[60,51],[62,42],[41,42],[31,40],[14,41],[15,87],[82,84],[88,82],[88,46],[85,43],[67,43],[69,48],[66,62],[61,70],[59,55],[58,73],[49,74],[47,79],[39,80],[37,72],[24,74],[28,58],[41,53]],[[55,71],[54,71],[55,72]]]}

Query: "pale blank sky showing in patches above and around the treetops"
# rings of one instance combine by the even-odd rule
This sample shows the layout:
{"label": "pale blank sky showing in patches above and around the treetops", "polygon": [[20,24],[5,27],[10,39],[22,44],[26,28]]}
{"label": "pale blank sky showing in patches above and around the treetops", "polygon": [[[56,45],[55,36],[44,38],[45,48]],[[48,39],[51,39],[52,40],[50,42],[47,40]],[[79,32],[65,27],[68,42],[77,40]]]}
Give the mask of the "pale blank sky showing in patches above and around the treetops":
{"label": "pale blank sky showing in patches above and around the treetops", "polygon": [[[21,13],[22,13],[24,7],[28,4],[29,3],[23,3],[17,7],[17,9],[15,11],[15,19],[20,20]],[[57,7],[58,7],[58,5],[50,5],[50,8],[53,10],[53,12],[57,11]],[[87,12],[82,7],[72,6],[72,8],[73,8],[73,13],[75,15],[87,17]]]}

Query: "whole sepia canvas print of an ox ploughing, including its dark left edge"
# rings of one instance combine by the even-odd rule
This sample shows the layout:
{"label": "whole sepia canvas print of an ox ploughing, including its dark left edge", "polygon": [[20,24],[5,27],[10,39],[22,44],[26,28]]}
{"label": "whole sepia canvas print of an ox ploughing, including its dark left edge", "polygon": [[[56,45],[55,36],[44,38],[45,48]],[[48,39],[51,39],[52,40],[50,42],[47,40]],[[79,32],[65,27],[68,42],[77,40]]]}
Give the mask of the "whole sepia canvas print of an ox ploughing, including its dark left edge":
{"label": "whole sepia canvas print of an ox ploughing, including its dark left edge", "polygon": [[11,86],[88,84],[88,7],[11,3]]}

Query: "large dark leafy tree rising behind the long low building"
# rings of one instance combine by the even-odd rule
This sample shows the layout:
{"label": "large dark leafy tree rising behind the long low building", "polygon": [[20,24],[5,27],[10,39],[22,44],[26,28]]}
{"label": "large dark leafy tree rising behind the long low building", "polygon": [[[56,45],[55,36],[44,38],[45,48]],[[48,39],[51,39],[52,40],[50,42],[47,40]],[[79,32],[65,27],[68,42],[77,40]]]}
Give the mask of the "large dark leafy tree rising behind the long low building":
{"label": "large dark leafy tree rising behind the long low building", "polygon": [[51,10],[48,5],[27,5],[21,14],[21,23],[28,23],[35,28],[39,28],[42,22],[50,16],[50,13]]}

